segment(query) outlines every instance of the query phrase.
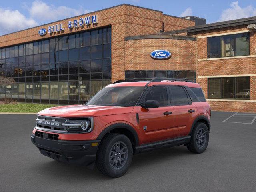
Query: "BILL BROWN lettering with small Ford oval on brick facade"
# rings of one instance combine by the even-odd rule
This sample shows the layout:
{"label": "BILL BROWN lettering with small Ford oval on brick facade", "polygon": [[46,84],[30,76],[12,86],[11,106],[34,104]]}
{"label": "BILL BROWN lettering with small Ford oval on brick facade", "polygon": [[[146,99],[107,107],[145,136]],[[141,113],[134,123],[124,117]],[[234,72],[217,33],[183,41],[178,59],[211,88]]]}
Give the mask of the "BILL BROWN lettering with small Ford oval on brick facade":
{"label": "BILL BROWN lettering with small Ford oval on brick facade", "polygon": [[[96,24],[98,23],[98,15],[92,15],[84,18],[80,18],[79,20],[75,19],[72,21],[68,21],[68,29],[72,30],[73,28],[79,28],[83,26],[89,26],[90,24]],[[48,33],[56,33],[56,32],[61,32],[64,31],[63,24],[56,24],[52,26],[48,26]],[[38,31],[38,34],[40,36],[44,36],[47,33],[47,30],[42,28]]]}

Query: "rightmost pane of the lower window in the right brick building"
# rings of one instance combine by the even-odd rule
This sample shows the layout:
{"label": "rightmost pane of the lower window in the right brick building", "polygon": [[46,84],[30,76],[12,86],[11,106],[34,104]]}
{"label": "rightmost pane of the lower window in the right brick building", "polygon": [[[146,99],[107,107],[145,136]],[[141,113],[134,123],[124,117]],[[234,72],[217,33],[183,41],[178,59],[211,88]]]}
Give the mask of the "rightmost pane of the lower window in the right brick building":
{"label": "rightmost pane of the lower window in the right brick building", "polygon": [[250,99],[250,77],[236,78],[236,99]]}

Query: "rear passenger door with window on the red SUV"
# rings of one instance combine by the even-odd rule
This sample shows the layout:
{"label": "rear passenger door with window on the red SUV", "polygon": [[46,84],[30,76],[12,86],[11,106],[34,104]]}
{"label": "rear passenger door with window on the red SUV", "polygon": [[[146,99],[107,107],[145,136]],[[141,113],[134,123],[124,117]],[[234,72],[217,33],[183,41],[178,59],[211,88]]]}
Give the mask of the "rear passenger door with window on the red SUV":
{"label": "rear passenger door with window on the red SUV", "polygon": [[190,132],[198,111],[183,86],[168,86],[171,104],[174,107],[174,137],[186,136]]}

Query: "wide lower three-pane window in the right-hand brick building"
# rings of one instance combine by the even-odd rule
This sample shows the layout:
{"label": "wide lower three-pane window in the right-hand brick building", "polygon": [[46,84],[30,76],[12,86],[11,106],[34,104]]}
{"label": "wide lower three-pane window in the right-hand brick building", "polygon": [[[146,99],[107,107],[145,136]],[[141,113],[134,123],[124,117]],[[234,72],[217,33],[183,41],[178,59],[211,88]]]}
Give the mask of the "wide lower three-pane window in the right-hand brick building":
{"label": "wide lower three-pane window in the right-hand brick building", "polygon": [[250,77],[208,78],[209,99],[250,99]]}

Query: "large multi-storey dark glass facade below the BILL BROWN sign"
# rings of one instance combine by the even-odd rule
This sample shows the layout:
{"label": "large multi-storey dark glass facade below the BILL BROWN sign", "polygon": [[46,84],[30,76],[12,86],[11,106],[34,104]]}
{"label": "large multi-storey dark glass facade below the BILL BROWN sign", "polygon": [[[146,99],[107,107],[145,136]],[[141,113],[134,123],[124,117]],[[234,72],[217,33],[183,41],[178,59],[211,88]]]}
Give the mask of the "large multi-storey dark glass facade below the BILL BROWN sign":
{"label": "large multi-storey dark glass facade below the BILL BROWN sign", "polygon": [[0,98],[77,104],[111,83],[111,27],[0,48]]}

